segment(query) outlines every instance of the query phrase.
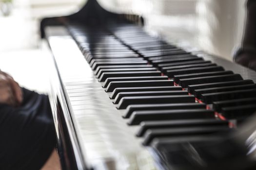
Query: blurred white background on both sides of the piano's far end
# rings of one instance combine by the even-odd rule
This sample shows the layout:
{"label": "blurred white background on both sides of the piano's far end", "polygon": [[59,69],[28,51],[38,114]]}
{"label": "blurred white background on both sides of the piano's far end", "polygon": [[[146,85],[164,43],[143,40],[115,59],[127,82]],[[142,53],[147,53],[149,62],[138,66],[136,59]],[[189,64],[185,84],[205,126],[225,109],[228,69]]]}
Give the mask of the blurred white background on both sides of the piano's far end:
{"label": "blurred white background on both sides of the piano's far end", "polygon": [[[41,50],[43,17],[72,14],[86,0],[0,0],[0,68],[22,86],[45,92],[47,57]],[[117,13],[146,18],[148,30],[232,60],[240,46],[246,0],[98,0]],[[153,32],[154,33],[154,32]]]}

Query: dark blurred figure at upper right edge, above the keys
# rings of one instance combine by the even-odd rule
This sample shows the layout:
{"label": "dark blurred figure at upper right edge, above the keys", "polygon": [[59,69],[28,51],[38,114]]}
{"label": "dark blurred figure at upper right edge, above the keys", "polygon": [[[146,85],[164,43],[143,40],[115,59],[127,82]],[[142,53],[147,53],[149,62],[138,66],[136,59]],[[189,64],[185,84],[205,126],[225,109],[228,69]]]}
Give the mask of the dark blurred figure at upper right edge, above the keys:
{"label": "dark blurred figure at upper right edge, above the keys", "polygon": [[247,0],[247,19],[241,48],[234,61],[256,71],[256,0]]}

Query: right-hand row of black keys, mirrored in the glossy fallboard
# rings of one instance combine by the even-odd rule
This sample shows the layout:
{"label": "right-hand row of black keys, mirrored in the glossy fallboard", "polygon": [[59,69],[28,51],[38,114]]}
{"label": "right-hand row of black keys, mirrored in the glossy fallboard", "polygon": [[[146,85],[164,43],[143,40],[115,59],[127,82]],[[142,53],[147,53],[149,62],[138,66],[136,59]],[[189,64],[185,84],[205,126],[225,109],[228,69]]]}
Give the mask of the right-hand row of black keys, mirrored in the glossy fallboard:
{"label": "right-hand row of black keys, mirrored in the glossy fallboard", "polygon": [[[173,78],[178,85],[188,88],[189,93],[204,103],[213,104],[213,108],[224,116],[247,116],[256,110],[256,84],[253,81],[243,80],[239,74],[225,71],[221,66],[160,40],[156,41],[147,34],[138,36],[137,30],[130,33],[127,36],[121,30],[116,34],[150,64]],[[155,47],[143,49],[151,45]]]}

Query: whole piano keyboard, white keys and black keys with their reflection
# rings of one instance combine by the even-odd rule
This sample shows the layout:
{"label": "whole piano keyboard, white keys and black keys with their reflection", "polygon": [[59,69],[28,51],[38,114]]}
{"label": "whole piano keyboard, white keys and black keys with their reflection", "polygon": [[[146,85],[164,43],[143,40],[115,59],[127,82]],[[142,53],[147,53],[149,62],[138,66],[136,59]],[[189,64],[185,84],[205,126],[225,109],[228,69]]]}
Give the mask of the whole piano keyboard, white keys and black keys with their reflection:
{"label": "whole piano keyboard, white keys and black keys with their reflection", "polygon": [[[248,79],[255,74],[239,74],[227,61],[223,67],[221,59],[181,49],[133,24],[70,24],[70,35],[61,30],[66,45],[52,48],[53,54],[89,167],[168,169],[170,163],[160,160],[168,146],[218,140],[217,132],[256,111],[255,79]],[[50,35],[53,47],[59,35]]]}

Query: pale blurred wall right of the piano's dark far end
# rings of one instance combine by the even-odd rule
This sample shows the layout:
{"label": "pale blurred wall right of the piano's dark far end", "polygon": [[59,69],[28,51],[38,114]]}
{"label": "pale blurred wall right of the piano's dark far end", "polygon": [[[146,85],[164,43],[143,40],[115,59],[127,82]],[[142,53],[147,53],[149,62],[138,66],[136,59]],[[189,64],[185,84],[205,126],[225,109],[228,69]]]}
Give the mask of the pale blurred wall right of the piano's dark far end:
{"label": "pale blurred wall right of the piano's dark far end", "polygon": [[187,41],[228,60],[241,42],[245,1],[100,0],[113,11],[142,14],[150,29],[171,41]]}

